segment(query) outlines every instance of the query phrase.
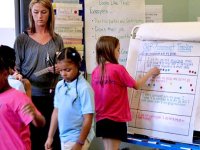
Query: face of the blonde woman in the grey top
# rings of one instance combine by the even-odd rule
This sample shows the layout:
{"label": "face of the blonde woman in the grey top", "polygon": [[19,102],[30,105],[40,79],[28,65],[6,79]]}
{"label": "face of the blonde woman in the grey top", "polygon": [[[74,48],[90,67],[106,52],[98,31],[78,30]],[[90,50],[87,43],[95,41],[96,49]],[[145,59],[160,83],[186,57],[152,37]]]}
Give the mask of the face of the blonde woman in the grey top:
{"label": "face of the blonde woman in the grey top", "polygon": [[49,10],[42,6],[42,4],[36,3],[33,5],[31,11],[35,26],[46,26],[49,19]]}

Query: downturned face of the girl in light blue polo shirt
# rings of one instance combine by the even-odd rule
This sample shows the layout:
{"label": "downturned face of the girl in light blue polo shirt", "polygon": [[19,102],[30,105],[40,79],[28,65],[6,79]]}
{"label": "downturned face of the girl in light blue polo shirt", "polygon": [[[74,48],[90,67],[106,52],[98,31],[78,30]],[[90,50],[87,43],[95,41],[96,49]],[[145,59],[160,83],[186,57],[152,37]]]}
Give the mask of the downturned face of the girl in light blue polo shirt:
{"label": "downturned face of the girl in light blue polo shirt", "polygon": [[62,60],[58,62],[60,69],[60,75],[66,82],[71,82],[77,78],[79,74],[78,66],[67,60]]}

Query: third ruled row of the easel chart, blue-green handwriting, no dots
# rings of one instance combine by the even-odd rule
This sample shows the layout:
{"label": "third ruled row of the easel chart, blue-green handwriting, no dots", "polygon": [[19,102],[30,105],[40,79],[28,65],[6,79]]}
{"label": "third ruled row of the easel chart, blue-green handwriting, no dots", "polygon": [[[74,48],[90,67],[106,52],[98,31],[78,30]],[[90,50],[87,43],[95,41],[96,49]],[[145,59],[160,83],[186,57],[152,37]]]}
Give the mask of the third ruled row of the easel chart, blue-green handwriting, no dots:
{"label": "third ruled row of the easel chart, blue-green handwriting, no dots", "polygon": [[132,109],[139,106],[140,110],[191,116],[194,100],[195,96],[189,94],[135,91],[130,106]]}

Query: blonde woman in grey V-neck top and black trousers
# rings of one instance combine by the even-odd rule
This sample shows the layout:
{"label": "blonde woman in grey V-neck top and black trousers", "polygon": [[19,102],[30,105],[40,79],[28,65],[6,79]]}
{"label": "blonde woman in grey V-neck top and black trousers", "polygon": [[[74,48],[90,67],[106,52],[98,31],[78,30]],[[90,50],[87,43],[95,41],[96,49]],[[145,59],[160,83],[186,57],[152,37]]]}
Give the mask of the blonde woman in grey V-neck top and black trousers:
{"label": "blonde woman in grey V-neck top and black trousers", "polygon": [[[52,92],[58,79],[56,51],[63,48],[62,38],[54,32],[54,12],[50,0],[32,0],[29,4],[29,28],[14,44],[17,70],[32,87],[32,101],[46,118],[41,130],[31,127],[33,150],[44,149],[53,111]],[[55,66],[55,67],[54,67]],[[38,74],[38,72],[41,72]],[[58,140],[57,140],[58,139]],[[59,137],[54,138],[55,149],[60,149]]]}

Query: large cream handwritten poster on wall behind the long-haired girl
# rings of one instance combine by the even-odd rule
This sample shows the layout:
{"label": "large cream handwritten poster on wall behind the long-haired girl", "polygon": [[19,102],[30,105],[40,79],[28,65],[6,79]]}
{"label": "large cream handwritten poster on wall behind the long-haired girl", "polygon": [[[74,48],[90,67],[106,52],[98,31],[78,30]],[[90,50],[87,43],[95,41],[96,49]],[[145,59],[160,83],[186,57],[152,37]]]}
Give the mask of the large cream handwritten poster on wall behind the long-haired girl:
{"label": "large cream handwritten poster on wall behind the long-haired girl", "polygon": [[125,65],[133,26],[145,21],[145,0],[85,0],[85,48],[87,72],[96,66],[95,46],[103,35],[120,40],[119,63]]}

